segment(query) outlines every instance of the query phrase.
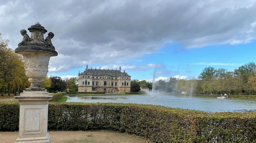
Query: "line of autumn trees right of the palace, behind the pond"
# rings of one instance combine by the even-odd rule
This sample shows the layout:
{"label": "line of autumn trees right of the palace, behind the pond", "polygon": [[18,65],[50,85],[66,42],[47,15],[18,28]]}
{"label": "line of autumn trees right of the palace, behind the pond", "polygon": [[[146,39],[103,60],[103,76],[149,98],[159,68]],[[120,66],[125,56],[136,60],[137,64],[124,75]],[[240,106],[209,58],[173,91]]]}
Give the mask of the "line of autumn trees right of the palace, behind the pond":
{"label": "line of autumn trees right of the palace, behind the pond", "polygon": [[[153,83],[147,83],[152,90]],[[139,92],[141,85],[147,85],[145,81],[131,81],[131,92]],[[154,89],[161,92],[172,93],[203,93],[203,94],[256,94],[256,65],[254,62],[227,71],[220,68],[206,67],[200,75],[190,80],[170,77],[169,81],[158,80],[154,82]]]}

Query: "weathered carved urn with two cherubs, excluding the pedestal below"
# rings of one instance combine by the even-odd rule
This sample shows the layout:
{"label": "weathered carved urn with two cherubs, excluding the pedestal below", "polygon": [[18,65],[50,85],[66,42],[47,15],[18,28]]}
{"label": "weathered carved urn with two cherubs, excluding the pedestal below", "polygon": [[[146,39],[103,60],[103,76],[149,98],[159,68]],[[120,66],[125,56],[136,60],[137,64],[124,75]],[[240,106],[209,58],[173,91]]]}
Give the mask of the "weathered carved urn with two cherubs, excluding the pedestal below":
{"label": "weathered carved urn with two cherubs, excluding the pedestal below", "polygon": [[41,82],[47,75],[50,57],[58,55],[51,41],[54,33],[49,32],[44,39],[47,30],[40,23],[32,25],[28,30],[31,32],[31,37],[26,30],[21,30],[23,39],[15,49],[16,53],[23,55],[25,74],[29,77],[30,87],[25,91],[45,91],[41,88]]}

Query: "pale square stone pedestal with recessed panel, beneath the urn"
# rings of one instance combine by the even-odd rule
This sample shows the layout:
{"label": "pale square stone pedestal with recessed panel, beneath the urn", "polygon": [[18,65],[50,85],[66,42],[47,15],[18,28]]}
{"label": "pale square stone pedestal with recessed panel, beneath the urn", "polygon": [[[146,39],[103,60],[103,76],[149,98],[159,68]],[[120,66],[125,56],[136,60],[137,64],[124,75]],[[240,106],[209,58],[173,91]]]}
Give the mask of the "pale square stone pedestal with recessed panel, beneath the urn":
{"label": "pale square stone pedestal with recessed panel, beneath the urn", "polygon": [[49,143],[48,101],[52,96],[46,91],[24,91],[14,98],[20,102],[19,137],[16,143]]}

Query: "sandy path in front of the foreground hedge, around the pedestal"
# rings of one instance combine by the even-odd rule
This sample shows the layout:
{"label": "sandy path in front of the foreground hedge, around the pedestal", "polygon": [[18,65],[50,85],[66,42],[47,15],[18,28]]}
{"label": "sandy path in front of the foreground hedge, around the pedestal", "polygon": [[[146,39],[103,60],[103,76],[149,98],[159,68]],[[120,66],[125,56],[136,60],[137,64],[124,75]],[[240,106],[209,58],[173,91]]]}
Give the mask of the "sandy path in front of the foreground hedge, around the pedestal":
{"label": "sandy path in front of the foreground hedge, around the pedestal", "polygon": [[[149,143],[148,140],[115,132],[48,132],[52,143]],[[0,143],[14,143],[18,132],[0,132]]]}

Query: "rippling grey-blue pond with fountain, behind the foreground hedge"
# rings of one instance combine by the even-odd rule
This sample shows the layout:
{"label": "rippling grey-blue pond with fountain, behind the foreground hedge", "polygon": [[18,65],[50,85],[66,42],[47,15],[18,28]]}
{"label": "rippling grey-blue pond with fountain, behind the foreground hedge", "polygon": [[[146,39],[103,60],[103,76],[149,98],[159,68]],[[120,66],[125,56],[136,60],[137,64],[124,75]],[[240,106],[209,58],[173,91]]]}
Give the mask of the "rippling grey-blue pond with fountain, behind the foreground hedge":
{"label": "rippling grey-blue pond with fountain, behind the foreground hedge", "polygon": [[115,102],[162,105],[174,108],[201,110],[205,112],[256,111],[256,100],[217,99],[175,95],[86,95],[69,96],[66,102]]}

